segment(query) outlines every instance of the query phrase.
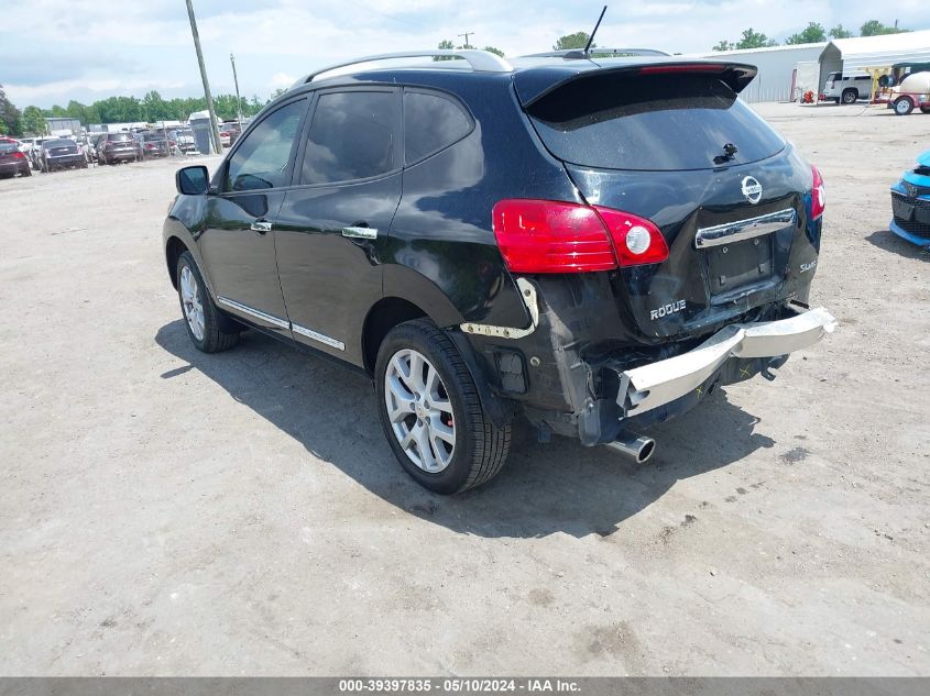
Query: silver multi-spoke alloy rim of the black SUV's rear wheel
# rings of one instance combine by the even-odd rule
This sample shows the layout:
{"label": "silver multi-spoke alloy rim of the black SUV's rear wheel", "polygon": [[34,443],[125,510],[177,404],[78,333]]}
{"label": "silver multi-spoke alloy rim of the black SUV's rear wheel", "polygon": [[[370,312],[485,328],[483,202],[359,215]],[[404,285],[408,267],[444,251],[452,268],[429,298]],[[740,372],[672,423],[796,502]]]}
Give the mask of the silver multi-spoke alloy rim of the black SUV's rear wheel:
{"label": "silver multi-spoke alloy rim of the black SUV's rear wheel", "polygon": [[384,373],[384,400],[391,430],[407,457],[438,474],[452,461],[456,424],[452,402],[439,372],[422,353],[394,353]]}

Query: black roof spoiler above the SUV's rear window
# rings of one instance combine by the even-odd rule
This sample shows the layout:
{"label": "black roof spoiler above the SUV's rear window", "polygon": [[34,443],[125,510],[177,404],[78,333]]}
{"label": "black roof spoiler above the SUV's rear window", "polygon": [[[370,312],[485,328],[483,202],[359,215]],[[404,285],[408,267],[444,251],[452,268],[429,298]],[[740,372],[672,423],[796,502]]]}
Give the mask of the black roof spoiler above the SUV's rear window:
{"label": "black roof spoiler above the SUV's rear window", "polygon": [[625,63],[619,66],[601,66],[594,63],[583,65],[551,65],[519,70],[514,75],[517,97],[524,107],[530,107],[546,95],[565,87],[569,82],[605,75],[675,75],[675,74],[714,75],[730,89],[738,93],[753,81],[757,69],[744,63],[723,63],[719,60],[681,60]]}

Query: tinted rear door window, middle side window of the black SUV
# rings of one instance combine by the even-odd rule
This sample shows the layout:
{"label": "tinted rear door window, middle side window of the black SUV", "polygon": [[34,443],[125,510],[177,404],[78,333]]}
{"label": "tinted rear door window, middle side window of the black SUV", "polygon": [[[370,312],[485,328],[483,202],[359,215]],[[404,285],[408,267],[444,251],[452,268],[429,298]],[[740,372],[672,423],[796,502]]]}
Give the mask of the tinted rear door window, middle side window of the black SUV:
{"label": "tinted rear door window, middle side window of the black SUV", "polygon": [[393,90],[320,95],[300,184],[368,179],[397,164],[398,97]]}

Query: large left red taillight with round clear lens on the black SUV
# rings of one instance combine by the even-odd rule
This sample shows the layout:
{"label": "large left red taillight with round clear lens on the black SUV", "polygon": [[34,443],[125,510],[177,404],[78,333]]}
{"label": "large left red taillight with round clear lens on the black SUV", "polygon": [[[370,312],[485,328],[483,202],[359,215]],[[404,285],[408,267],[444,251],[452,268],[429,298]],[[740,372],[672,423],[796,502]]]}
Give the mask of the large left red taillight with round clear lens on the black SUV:
{"label": "large left red taillight with round clear lens on the black SUV", "polygon": [[[668,257],[665,239],[652,222],[610,208],[507,199],[494,206],[492,220],[501,254],[514,273],[611,270]],[[636,227],[648,239],[644,246],[637,231],[638,254],[626,245]]]}

